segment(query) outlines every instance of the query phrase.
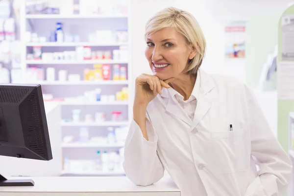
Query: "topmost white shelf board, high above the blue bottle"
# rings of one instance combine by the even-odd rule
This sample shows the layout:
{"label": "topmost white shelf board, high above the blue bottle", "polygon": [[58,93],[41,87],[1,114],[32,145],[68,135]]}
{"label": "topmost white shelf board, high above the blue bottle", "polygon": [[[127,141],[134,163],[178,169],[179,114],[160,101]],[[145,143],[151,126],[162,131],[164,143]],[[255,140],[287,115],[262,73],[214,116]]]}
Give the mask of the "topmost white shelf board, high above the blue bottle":
{"label": "topmost white shelf board, high above the blue bottle", "polygon": [[107,18],[128,18],[127,15],[103,16],[103,15],[79,15],[79,14],[26,14],[26,19],[107,19]]}

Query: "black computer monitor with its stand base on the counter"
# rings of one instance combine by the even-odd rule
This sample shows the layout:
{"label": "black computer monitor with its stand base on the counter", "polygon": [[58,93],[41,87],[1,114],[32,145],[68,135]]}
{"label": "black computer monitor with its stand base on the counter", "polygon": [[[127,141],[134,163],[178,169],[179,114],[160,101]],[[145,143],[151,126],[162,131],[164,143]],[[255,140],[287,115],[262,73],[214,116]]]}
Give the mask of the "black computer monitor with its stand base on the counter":
{"label": "black computer monitor with its stand base on the counter", "polygon": [[[0,155],[52,159],[40,85],[0,84]],[[0,186],[33,185],[31,179],[7,180],[0,175]]]}

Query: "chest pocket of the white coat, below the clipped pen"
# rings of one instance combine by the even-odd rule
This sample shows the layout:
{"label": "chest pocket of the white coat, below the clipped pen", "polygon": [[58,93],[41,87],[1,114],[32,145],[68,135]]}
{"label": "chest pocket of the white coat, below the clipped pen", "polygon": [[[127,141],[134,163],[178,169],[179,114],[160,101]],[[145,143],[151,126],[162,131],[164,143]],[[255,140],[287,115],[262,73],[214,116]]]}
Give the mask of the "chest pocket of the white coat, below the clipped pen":
{"label": "chest pocket of the white coat, below the clipped pen", "polygon": [[243,129],[211,133],[217,173],[242,172],[250,165],[250,140]]}

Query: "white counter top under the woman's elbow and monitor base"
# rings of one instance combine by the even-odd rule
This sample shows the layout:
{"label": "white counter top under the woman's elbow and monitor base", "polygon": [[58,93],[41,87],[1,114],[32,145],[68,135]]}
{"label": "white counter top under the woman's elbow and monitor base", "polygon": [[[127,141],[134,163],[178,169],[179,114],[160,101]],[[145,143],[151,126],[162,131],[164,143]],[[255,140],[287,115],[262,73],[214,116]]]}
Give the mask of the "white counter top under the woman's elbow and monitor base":
{"label": "white counter top under the woman's elbow and monitor base", "polygon": [[[22,177],[25,179],[25,177]],[[28,178],[28,177],[26,177]],[[20,179],[10,177],[9,179]],[[136,186],[126,177],[29,177],[35,186],[0,187],[0,196],[180,196],[170,178]]]}

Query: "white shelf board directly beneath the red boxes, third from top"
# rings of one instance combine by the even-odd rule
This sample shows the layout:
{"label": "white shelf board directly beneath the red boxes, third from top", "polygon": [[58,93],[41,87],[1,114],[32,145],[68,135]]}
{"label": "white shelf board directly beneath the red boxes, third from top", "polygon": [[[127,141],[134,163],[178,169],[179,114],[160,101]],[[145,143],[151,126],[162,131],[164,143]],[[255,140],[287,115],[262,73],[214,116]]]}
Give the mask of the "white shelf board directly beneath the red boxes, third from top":
{"label": "white shelf board directly beneath the red boxes, third from top", "polygon": [[26,64],[31,65],[64,65],[64,64],[128,64],[127,61],[118,61],[118,60],[82,60],[82,61],[67,61],[67,60],[59,60],[59,61],[43,61],[43,60],[26,60]]}

